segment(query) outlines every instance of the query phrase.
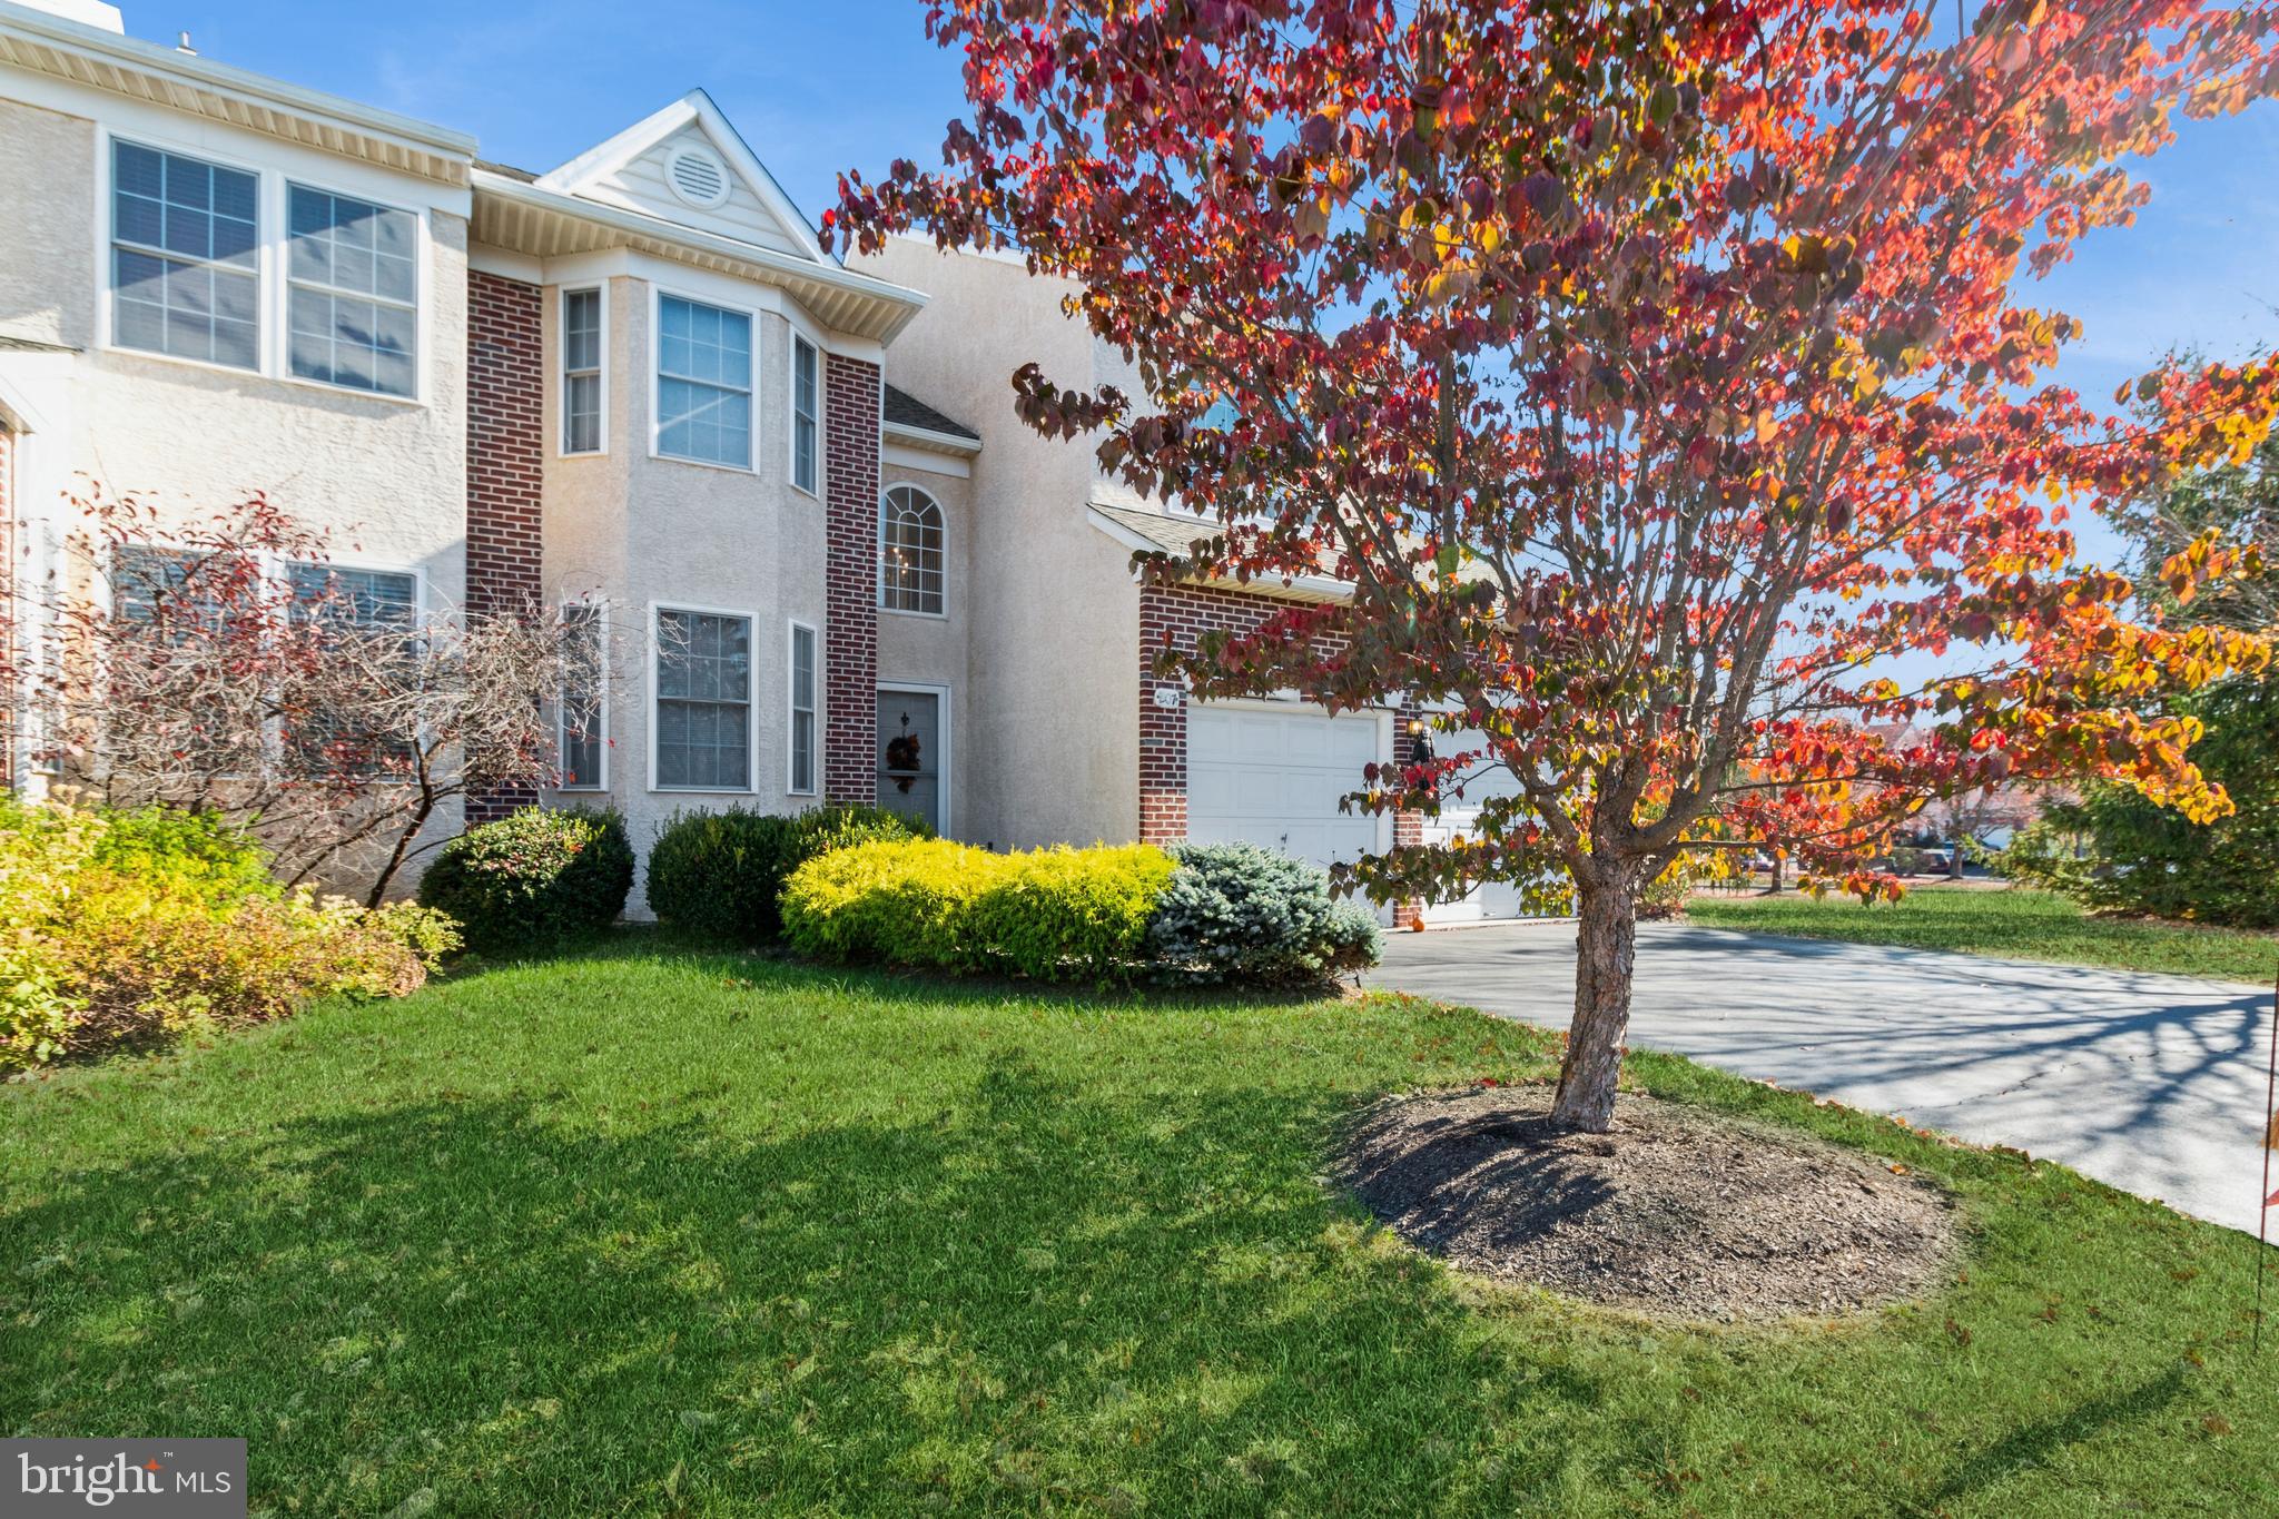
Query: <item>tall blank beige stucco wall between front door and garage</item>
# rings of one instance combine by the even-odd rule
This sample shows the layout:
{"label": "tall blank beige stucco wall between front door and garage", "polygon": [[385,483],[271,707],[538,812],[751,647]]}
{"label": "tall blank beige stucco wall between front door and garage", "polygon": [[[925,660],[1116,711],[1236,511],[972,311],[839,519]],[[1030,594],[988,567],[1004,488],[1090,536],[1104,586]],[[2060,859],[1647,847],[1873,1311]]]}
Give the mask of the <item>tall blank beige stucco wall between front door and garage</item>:
{"label": "tall blank beige stucco wall between front door and garage", "polygon": [[957,831],[1000,847],[1130,840],[1140,590],[1130,553],[1085,515],[1124,492],[1101,478],[1092,440],[1048,442],[1012,408],[1012,373],[1030,360],[1057,385],[1101,376],[1092,335],[1060,310],[1073,287],[912,239],[850,264],[928,292],[887,351],[887,378],[982,435]]}

